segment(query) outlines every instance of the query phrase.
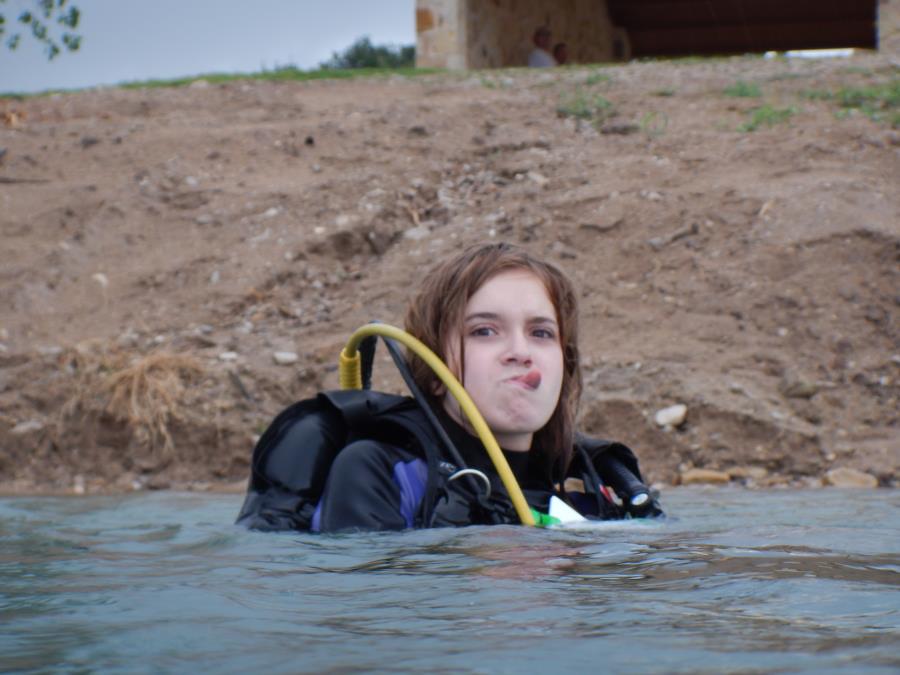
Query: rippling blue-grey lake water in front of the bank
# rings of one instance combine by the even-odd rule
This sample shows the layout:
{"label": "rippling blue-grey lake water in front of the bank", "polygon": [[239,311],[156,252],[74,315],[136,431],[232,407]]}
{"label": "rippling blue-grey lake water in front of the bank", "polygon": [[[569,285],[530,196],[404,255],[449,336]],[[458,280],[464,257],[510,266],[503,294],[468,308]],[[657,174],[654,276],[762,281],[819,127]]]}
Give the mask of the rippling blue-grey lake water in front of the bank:
{"label": "rippling blue-grey lake water in front of the bank", "polygon": [[900,672],[897,490],[340,536],[247,532],[241,501],[0,499],[0,671]]}

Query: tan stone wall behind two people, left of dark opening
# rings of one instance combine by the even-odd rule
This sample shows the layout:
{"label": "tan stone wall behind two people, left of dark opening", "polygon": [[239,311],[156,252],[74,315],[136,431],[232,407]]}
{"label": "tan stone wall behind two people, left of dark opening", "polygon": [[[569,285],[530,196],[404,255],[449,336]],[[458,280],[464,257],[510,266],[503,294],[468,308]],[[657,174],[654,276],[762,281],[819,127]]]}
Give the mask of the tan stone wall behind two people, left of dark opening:
{"label": "tan stone wall behind two people, left of dark opening", "polygon": [[[417,0],[419,67],[524,66],[538,26],[565,42],[571,63],[628,58],[605,0]],[[614,44],[618,41],[620,47]]]}

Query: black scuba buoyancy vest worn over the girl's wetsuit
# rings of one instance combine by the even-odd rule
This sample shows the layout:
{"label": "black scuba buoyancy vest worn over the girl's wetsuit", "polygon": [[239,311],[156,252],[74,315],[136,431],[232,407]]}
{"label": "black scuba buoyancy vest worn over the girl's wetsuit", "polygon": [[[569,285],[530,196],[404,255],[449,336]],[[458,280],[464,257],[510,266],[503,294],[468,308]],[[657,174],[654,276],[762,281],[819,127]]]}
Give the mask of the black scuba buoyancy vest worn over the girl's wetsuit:
{"label": "black scuba buoyancy vest worn over the girl's wetsuit", "polygon": [[[310,530],[332,463],[359,439],[389,444],[425,463],[424,493],[411,526],[519,522],[502,487],[488,496],[483,482],[471,475],[480,472],[464,471],[444,457],[440,439],[415,400],[341,390],[295,403],[275,417],[254,447],[238,524],[257,530]],[[588,517],[662,514],[640,480],[637,459],[624,445],[579,435],[572,464],[569,477],[579,479],[584,492],[566,493],[559,486],[559,494]],[[468,475],[460,479],[460,474]],[[532,505],[548,498],[525,493]]]}

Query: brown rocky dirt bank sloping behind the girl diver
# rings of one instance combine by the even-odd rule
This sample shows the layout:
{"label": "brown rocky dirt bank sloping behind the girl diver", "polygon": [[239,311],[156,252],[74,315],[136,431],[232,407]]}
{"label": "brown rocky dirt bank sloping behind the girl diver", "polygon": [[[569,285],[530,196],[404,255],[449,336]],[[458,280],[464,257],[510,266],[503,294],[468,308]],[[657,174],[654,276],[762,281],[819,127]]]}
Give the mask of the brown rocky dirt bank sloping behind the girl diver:
{"label": "brown rocky dirt bank sloping behind the girl diver", "polygon": [[[882,53],[0,100],[0,489],[241,483],[352,330],[485,239],[571,273],[582,427],[653,481],[896,486],[898,78]],[[402,389],[383,353],[375,384]]]}

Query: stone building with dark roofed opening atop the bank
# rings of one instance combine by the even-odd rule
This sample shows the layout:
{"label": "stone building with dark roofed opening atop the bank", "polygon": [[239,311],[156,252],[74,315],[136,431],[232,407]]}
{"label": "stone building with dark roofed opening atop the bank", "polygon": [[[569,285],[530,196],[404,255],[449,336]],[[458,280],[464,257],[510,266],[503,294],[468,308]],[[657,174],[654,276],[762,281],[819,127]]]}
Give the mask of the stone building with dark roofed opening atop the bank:
{"label": "stone building with dark roofed opening atop the bank", "polygon": [[417,0],[416,61],[451,69],[522,66],[539,26],[567,44],[573,63],[871,49],[878,44],[878,5],[879,0]]}

